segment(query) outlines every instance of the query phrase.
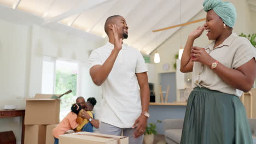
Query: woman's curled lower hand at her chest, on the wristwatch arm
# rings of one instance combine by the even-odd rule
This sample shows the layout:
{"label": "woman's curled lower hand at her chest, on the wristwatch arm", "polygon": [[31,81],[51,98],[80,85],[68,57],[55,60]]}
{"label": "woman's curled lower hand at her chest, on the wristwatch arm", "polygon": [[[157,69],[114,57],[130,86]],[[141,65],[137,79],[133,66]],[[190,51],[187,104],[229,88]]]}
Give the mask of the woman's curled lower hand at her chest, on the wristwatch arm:
{"label": "woman's curled lower hand at her chest, on the wristwatch arm", "polygon": [[200,62],[204,65],[211,65],[214,62],[214,59],[201,47],[191,47],[190,56],[192,62]]}

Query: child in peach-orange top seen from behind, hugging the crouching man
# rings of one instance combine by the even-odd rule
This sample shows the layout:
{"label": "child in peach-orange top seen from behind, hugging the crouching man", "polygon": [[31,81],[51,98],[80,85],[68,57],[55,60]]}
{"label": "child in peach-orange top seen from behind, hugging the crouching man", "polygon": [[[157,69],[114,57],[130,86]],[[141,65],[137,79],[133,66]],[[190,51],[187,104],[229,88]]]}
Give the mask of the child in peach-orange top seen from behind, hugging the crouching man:
{"label": "child in peach-orange top seen from behind, hugging the crouching man", "polygon": [[76,122],[79,111],[82,109],[80,104],[73,104],[71,112],[53,129],[54,144],[59,144],[59,137],[63,135],[65,131],[75,129],[79,125]]}

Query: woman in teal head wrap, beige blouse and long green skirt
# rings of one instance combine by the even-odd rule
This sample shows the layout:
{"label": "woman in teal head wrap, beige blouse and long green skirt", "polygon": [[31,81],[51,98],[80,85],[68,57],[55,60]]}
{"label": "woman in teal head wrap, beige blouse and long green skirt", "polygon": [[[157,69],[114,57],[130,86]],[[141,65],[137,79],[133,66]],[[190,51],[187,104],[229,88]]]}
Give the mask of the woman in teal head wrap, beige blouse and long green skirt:
{"label": "woman in teal head wrap, beige blouse and long green skirt", "polygon": [[[229,2],[205,0],[204,26],[193,31],[181,59],[181,71],[193,71],[181,143],[252,143],[245,107],[239,97],[256,75],[255,48],[232,33],[236,9]],[[213,40],[205,49],[193,46],[206,29]]]}

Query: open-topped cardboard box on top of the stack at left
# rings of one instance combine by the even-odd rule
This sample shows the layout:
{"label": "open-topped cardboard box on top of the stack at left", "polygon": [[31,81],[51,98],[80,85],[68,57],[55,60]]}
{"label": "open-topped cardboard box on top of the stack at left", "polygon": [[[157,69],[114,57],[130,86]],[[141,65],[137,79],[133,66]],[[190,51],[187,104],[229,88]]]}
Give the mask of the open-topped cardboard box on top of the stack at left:
{"label": "open-topped cardboard box on top of the stack at left", "polygon": [[53,94],[36,94],[26,100],[25,124],[56,124],[60,122],[60,99]]}

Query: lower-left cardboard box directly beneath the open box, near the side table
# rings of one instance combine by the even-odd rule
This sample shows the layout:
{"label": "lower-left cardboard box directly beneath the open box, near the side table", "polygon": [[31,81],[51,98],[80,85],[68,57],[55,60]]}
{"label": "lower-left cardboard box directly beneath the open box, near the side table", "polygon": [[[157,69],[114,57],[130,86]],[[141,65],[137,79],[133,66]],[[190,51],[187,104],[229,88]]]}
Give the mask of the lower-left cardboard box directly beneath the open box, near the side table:
{"label": "lower-left cardboard box directly beneath the open box, near the side table", "polygon": [[25,125],[25,144],[45,144],[46,125]]}

